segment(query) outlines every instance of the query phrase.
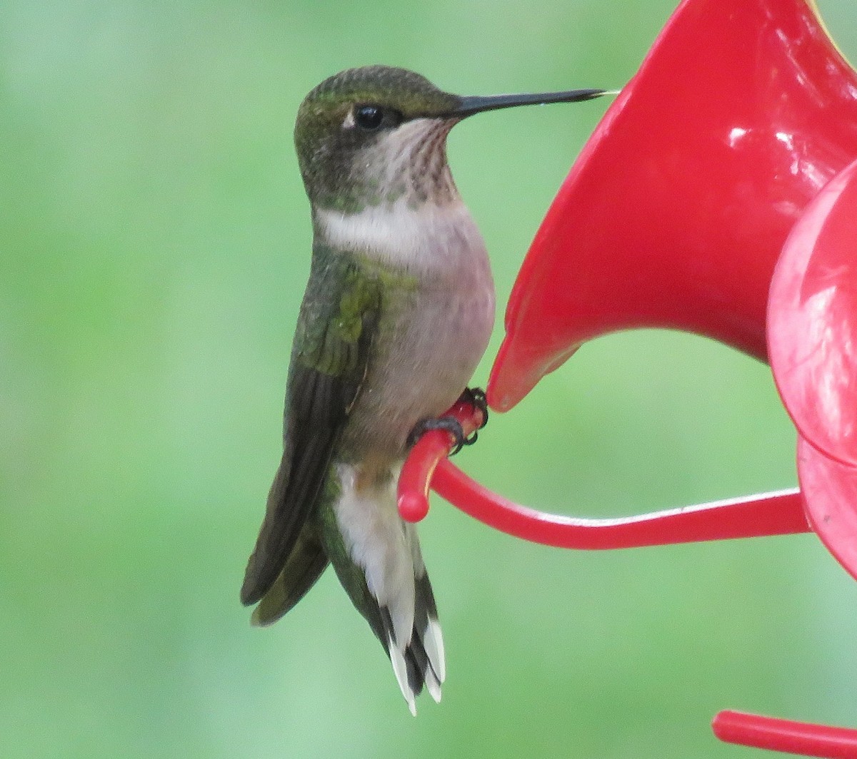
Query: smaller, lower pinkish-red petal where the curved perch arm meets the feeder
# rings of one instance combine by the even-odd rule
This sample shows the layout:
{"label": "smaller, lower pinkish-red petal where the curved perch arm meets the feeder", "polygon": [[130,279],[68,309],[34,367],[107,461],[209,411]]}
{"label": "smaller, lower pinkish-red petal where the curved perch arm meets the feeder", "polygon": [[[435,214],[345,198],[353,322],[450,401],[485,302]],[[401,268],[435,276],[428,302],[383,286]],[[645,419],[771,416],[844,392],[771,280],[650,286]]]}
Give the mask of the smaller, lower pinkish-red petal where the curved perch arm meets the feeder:
{"label": "smaller, lower pinkish-red petal where the curved perch arm meets the feeder", "polygon": [[801,437],[798,477],[812,529],[857,578],[857,467],[831,459]]}

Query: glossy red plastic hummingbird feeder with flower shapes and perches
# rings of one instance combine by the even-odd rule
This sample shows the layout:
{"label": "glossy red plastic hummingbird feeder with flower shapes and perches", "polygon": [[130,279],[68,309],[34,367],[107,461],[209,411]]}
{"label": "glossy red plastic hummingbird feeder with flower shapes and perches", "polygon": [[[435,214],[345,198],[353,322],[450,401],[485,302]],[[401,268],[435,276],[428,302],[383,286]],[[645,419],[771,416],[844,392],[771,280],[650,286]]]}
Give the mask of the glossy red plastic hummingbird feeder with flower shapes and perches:
{"label": "glossy red plastic hummingbird feeder with flower shapes and perches", "polygon": [[[488,405],[506,412],[585,341],[680,329],[770,360],[798,430],[800,489],[622,519],[496,495],[423,436],[399,511],[428,487],[476,519],[563,548],[814,531],[857,578],[857,72],[810,0],[684,0],[596,127],[506,308]],[[451,413],[465,431],[480,414]],[[857,757],[857,730],[724,711],[718,738]]]}

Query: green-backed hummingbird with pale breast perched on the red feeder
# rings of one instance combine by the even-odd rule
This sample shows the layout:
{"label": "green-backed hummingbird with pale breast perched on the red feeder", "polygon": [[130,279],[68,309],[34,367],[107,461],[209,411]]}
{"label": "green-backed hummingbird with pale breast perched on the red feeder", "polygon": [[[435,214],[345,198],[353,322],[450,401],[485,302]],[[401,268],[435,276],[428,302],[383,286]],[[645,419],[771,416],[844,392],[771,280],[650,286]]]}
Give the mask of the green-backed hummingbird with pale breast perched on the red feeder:
{"label": "green-backed hummingbird with pale breast perched on the red feeder", "polygon": [[[350,68],[297,111],[313,246],[286,381],[284,445],[241,600],[278,620],[328,564],[381,641],[411,714],[440,702],[443,637],[415,525],[396,507],[415,433],[467,390],[494,282],[446,162],[462,119],[603,90],[461,97],[403,68]],[[470,396],[472,398],[472,396]]]}

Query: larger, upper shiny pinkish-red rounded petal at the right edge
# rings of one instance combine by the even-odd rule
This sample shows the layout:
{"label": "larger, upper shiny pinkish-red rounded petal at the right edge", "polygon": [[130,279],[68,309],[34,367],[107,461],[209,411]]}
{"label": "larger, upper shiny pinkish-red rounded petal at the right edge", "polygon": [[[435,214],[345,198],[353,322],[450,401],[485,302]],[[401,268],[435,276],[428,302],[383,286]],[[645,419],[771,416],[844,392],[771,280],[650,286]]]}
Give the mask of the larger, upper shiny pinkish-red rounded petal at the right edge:
{"label": "larger, upper shiny pinkish-red rounded petal at the right edge", "polygon": [[788,235],[768,314],[770,365],[794,424],[857,465],[857,161]]}

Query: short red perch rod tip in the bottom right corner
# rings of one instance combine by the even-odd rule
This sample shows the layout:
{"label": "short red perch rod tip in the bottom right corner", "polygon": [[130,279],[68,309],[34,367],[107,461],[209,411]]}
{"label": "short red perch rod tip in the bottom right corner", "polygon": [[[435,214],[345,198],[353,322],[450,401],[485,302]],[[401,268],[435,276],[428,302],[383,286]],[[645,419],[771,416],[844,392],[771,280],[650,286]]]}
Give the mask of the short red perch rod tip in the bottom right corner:
{"label": "short red perch rod tip in the bottom right corner", "polygon": [[857,759],[857,730],[811,725],[725,710],[711,722],[714,734],[731,744],[800,756]]}

